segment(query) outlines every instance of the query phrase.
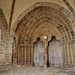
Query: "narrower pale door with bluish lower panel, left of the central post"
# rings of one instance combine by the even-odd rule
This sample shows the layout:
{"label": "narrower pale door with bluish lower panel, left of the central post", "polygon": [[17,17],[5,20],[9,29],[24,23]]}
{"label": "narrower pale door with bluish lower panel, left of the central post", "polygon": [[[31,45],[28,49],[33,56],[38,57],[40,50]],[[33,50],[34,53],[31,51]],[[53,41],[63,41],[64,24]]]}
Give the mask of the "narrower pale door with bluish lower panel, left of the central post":
{"label": "narrower pale door with bluish lower panel, left of the central post", "polygon": [[45,48],[40,38],[34,43],[34,66],[44,66]]}

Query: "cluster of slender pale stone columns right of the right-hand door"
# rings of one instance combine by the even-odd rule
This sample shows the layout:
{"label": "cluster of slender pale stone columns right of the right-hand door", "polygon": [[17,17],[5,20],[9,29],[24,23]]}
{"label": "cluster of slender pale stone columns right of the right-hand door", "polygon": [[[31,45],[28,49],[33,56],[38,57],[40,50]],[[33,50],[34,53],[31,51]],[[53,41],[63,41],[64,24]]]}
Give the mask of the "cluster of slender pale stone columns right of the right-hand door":
{"label": "cluster of slender pale stone columns right of the right-hand door", "polygon": [[66,41],[63,44],[63,65],[65,68],[70,68],[74,62],[74,44],[72,40]]}

